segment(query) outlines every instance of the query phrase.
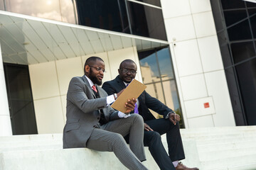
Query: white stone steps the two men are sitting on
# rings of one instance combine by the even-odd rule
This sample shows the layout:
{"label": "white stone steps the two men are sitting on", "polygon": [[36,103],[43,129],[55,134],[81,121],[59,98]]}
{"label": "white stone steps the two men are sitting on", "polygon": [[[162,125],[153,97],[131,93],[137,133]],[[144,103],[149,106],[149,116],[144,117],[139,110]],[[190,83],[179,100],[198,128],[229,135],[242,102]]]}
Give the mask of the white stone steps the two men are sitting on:
{"label": "white stone steps the two men are sitting on", "polygon": [[[256,169],[256,126],[181,130],[186,166],[201,170]],[[166,137],[162,141],[167,149]],[[146,149],[150,170],[159,169]],[[62,134],[0,137],[0,170],[126,169],[112,152],[62,149]]]}

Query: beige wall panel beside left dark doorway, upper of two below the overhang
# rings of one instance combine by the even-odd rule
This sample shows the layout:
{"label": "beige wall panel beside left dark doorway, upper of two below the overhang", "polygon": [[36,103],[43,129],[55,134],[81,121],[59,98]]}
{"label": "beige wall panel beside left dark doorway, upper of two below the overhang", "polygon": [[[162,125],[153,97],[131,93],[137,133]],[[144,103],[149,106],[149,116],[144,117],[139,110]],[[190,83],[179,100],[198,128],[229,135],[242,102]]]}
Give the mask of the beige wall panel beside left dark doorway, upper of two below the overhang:
{"label": "beige wall panel beside left dark doorway, upper of two below the overhang", "polygon": [[59,96],[55,62],[44,62],[29,65],[33,99]]}

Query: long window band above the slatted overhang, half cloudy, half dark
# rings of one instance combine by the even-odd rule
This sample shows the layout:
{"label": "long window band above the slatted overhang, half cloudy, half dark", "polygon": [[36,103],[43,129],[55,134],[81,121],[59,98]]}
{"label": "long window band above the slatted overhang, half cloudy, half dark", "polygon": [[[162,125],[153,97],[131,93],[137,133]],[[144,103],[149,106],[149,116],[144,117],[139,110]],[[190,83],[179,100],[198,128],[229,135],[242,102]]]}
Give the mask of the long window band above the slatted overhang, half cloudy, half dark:
{"label": "long window band above the slatted overhang, half cloudy, half dark", "polygon": [[[0,9],[82,26],[167,40],[160,1],[0,0]],[[5,3],[5,4],[4,4]],[[33,6],[33,8],[31,8]]]}

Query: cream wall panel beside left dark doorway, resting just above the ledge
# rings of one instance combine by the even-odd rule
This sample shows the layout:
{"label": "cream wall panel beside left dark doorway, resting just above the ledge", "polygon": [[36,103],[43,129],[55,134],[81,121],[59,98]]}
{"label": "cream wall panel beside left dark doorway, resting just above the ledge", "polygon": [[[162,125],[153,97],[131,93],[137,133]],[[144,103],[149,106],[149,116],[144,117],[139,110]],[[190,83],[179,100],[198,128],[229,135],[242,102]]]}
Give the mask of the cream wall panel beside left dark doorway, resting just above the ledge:
{"label": "cream wall panel beside left dark doorway, resting just above the ledge", "polygon": [[64,118],[60,96],[34,101],[34,106],[38,134],[63,132]]}

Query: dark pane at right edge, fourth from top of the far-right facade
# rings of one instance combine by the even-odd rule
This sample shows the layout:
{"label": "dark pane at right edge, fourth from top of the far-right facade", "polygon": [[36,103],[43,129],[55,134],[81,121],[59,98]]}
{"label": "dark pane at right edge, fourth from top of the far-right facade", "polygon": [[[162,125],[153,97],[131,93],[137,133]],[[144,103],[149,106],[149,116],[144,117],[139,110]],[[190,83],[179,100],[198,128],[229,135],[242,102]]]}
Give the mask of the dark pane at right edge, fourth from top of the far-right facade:
{"label": "dark pane at right edge, fourth from top of the far-right facade", "polygon": [[242,60],[246,60],[256,55],[252,41],[232,43],[231,50],[235,63],[242,62]]}

